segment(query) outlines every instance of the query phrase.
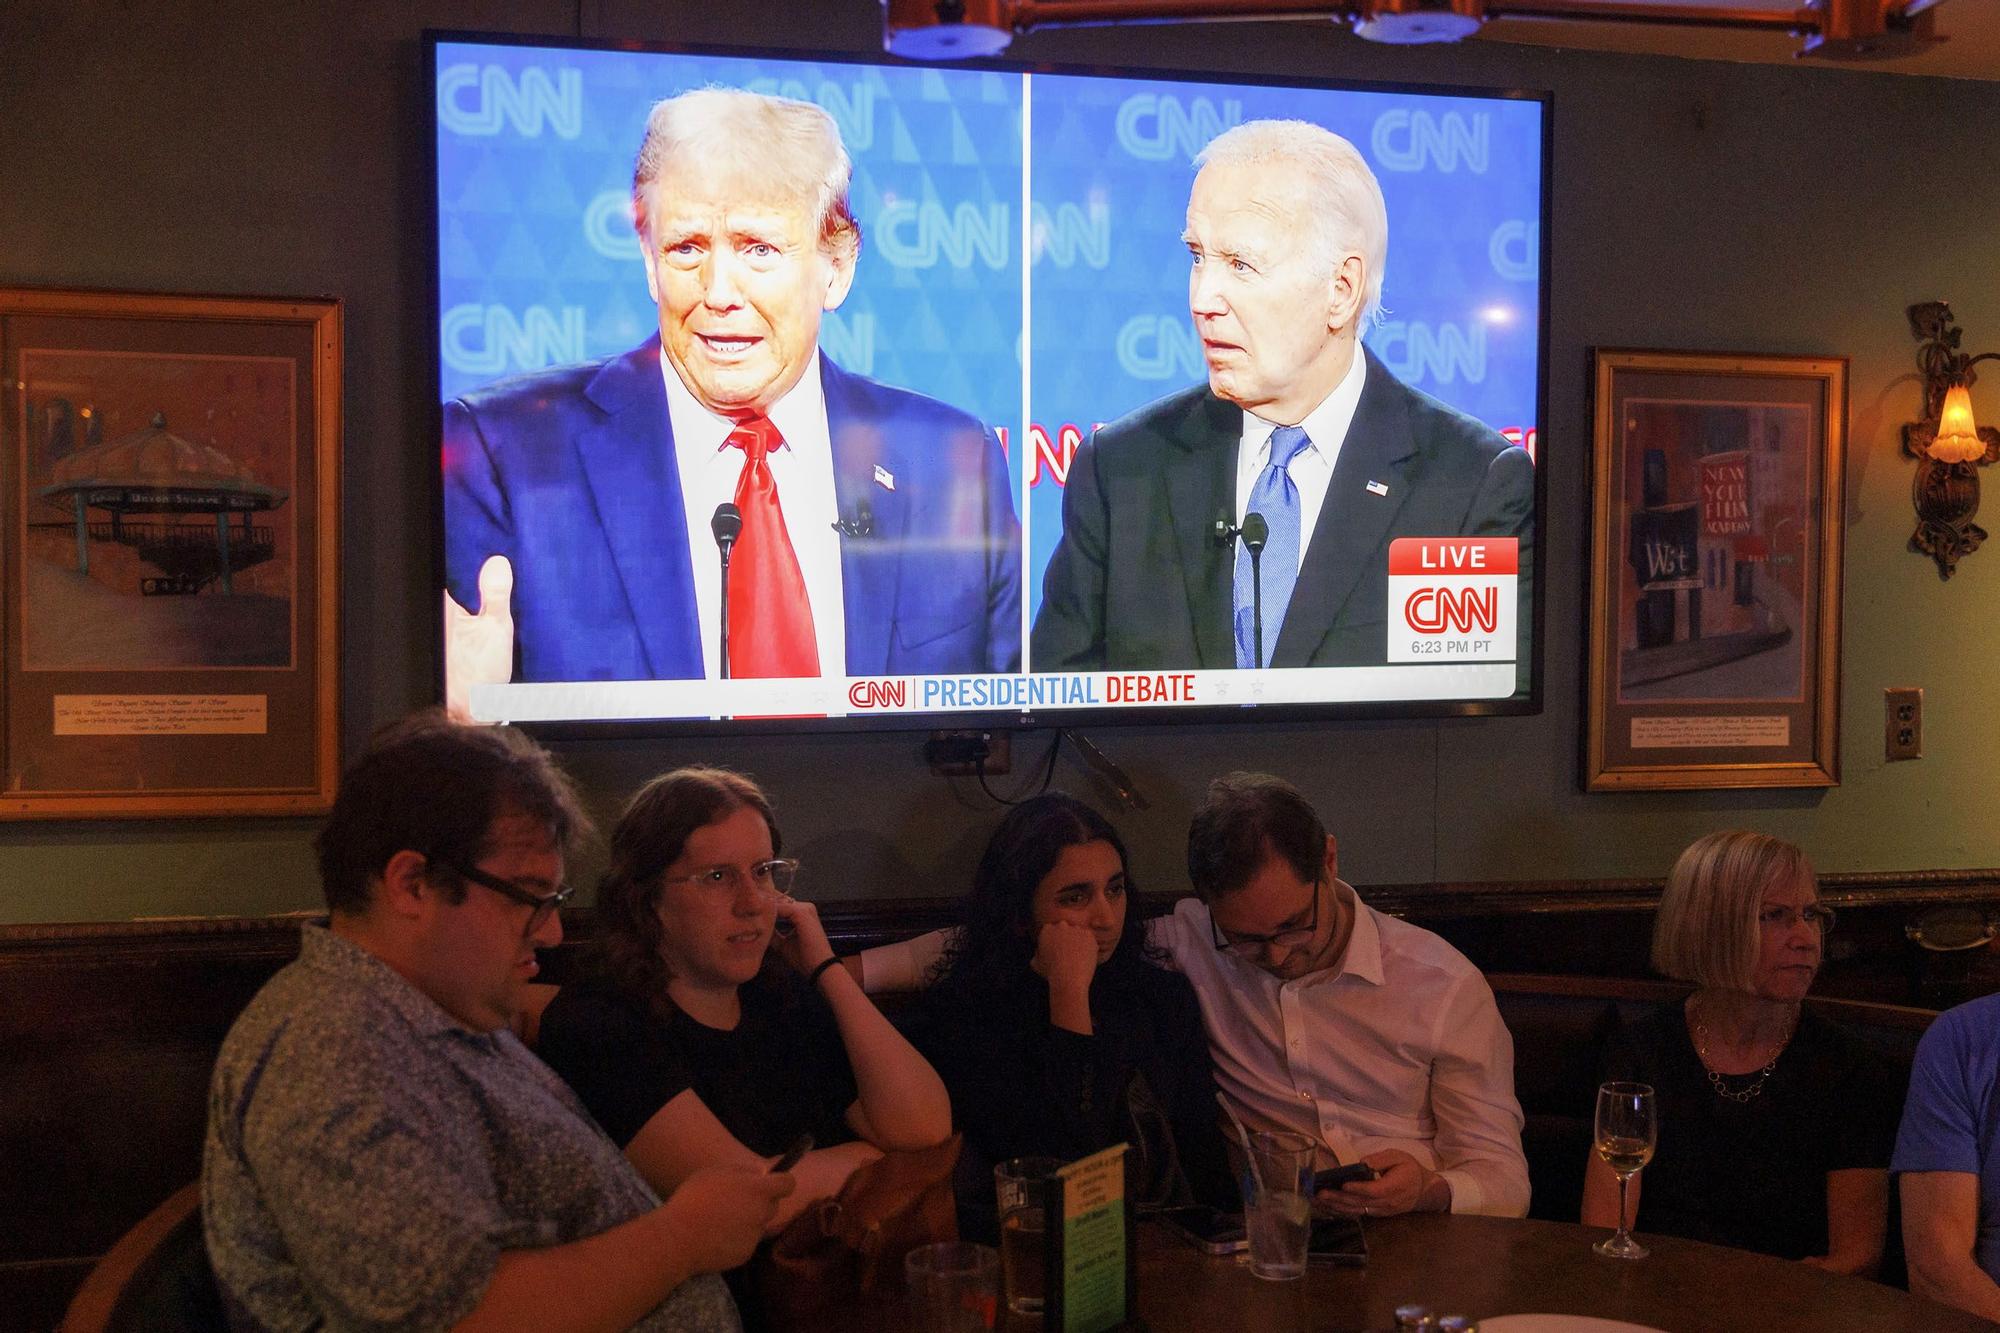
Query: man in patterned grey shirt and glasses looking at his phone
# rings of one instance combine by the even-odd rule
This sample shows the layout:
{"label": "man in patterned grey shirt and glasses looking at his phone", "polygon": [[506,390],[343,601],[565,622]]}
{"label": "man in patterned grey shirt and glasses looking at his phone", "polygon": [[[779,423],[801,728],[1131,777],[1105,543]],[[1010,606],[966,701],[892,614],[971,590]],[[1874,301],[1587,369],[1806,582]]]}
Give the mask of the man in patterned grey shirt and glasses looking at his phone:
{"label": "man in patterned grey shirt and glasses looking at his phone", "polygon": [[244,1009],[202,1153],[234,1327],[740,1329],[790,1175],[668,1203],[514,1037],[562,939],[584,817],[534,743],[420,715],[346,773],[316,841],[330,919]]}

